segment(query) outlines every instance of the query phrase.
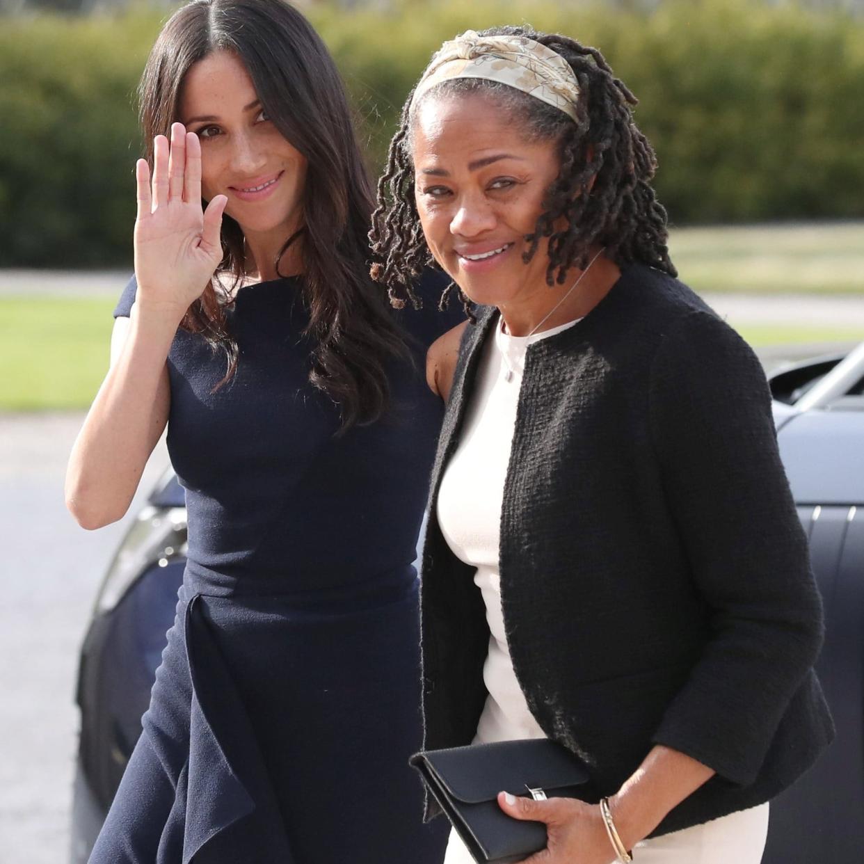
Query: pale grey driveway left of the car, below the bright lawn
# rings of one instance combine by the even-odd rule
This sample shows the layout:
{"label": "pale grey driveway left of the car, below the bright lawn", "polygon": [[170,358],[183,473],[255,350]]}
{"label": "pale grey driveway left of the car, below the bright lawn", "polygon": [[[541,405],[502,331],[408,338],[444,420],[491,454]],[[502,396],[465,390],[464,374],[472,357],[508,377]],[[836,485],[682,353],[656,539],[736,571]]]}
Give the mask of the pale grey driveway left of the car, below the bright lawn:
{"label": "pale grey driveway left of the car, below the bright lawn", "polygon": [[[124,522],[90,532],[63,504],[83,415],[0,415],[0,862],[67,861],[77,651]],[[156,449],[142,484],[168,456]],[[139,495],[131,512],[140,505]]]}

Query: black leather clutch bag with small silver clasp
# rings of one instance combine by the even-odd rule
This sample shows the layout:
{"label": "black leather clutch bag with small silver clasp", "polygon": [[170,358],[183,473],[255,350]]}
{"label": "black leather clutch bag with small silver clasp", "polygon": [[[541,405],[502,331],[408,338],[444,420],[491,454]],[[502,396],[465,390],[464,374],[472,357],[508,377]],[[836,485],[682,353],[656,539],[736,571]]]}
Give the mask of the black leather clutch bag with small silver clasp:
{"label": "black leather clutch bag with small silver clasp", "polygon": [[480,864],[524,861],[546,848],[546,826],[507,816],[499,792],[575,798],[588,781],[579,759],[545,738],[428,750],[412,756],[410,764]]}

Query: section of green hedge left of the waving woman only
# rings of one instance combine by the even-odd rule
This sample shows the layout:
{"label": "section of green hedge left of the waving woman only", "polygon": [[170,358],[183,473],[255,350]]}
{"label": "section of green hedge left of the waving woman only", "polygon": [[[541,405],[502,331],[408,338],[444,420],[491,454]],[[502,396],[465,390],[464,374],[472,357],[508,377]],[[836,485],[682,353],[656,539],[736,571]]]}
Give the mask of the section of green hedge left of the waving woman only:
{"label": "section of green hedge left of the waving woman only", "polygon": [[0,266],[130,259],[134,93],[154,16],[0,24]]}

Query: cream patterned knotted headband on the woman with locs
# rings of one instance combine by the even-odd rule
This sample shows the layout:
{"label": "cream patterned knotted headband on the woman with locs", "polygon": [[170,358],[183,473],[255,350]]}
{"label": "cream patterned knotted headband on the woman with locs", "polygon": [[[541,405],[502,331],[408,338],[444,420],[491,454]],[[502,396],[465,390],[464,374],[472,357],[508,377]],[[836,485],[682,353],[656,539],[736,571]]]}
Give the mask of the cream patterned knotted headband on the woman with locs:
{"label": "cream patterned knotted headband on the woman with locs", "polygon": [[436,84],[483,78],[515,87],[576,119],[579,82],[567,60],[525,36],[480,36],[466,30],[444,42],[422,74],[412,105]]}

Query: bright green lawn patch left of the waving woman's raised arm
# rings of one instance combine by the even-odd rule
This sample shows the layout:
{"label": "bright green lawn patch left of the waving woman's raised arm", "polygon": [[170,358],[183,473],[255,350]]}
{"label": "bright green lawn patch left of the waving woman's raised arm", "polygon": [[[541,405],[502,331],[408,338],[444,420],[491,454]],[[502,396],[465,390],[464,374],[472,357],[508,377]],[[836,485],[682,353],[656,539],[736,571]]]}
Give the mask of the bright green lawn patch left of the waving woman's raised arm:
{"label": "bright green lawn patch left of the waving woman's raised arm", "polygon": [[115,302],[0,296],[0,410],[86,408],[108,369]]}

